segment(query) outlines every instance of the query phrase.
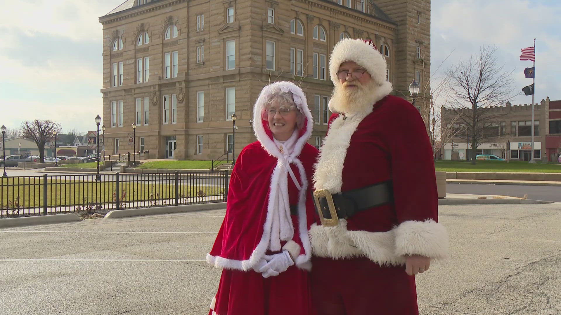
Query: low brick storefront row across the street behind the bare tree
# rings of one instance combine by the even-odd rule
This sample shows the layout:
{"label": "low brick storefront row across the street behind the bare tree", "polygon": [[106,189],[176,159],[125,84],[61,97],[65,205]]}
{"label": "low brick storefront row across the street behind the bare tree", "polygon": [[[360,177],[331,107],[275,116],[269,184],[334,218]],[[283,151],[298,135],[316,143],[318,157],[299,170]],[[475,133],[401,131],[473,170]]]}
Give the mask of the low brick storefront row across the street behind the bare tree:
{"label": "low brick storefront row across the street behind the bare tree", "polygon": [[[535,105],[534,118],[534,159],[542,161],[557,161],[558,152],[561,152],[561,101],[550,101],[548,98]],[[457,111],[442,108],[442,124],[445,126],[455,117]],[[469,110],[466,110],[469,112]],[[490,112],[491,115],[503,113],[502,117],[487,122],[484,132],[489,132],[495,137],[489,138],[477,147],[477,154],[493,154],[500,158],[511,160],[530,160],[531,156],[531,128],[532,105],[497,106]],[[459,129],[465,127],[457,126]],[[452,150],[452,141],[458,147]],[[507,142],[510,147],[507,146]],[[454,137],[445,143],[443,159],[466,160],[470,159],[470,152],[465,138]],[[471,149],[471,143],[470,147]],[[507,156],[508,155],[508,156]]]}

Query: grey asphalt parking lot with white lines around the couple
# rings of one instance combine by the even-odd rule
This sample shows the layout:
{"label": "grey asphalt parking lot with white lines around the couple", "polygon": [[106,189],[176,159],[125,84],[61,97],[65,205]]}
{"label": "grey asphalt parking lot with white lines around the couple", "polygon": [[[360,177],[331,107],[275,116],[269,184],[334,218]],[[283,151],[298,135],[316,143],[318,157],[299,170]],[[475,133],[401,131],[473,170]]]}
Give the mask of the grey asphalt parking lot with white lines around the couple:
{"label": "grey asphalt parking lot with white lines around the couple", "polygon": [[[15,314],[207,314],[224,210],[0,229]],[[417,277],[421,314],[561,314],[561,203],[441,206],[451,254]]]}

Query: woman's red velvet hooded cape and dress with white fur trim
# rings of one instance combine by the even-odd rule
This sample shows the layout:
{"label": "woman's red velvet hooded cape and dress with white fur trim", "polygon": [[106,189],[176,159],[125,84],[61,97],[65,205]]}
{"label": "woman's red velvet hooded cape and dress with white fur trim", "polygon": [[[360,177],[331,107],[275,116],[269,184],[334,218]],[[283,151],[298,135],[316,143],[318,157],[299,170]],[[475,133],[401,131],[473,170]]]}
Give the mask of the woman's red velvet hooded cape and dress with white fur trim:
{"label": "woman's red velvet hooded cape and dress with white fur trim", "polygon": [[[284,142],[273,138],[264,113],[265,102],[278,92],[291,92],[302,113],[300,129]],[[211,265],[223,268],[210,314],[307,315],[312,313],[307,231],[314,220],[309,180],[318,150],[306,143],[313,126],[306,96],[291,82],[265,86],[253,121],[257,141],[236,160],[226,217],[206,257]],[[289,253],[295,266],[266,279],[255,271],[278,253]]]}

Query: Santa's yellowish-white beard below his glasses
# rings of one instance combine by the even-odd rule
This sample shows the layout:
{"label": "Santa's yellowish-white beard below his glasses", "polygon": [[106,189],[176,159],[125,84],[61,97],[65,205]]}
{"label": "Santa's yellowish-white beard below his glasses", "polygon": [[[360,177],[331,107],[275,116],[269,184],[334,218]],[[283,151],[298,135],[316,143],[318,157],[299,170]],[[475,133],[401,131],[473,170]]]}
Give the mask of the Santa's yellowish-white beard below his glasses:
{"label": "Santa's yellowish-white beard below his glasses", "polygon": [[357,86],[357,89],[349,89],[345,85],[335,85],[333,95],[330,103],[333,110],[338,113],[357,113],[362,112],[367,107],[373,105],[373,99],[378,89],[378,84],[374,80],[370,80],[367,84],[363,85],[357,80],[352,84]]}

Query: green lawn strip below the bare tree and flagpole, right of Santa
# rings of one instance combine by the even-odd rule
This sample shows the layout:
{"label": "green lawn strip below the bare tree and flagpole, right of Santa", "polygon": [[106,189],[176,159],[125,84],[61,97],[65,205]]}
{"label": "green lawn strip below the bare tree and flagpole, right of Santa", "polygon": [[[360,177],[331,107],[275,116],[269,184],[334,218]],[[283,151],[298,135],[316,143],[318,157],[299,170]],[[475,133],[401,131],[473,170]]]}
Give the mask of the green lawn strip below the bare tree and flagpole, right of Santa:
{"label": "green lawn strip below the bare tree and flagpole, right of Santa", "polygon": [[512,173],[561,173],[561,165],[530,164],[525,161],[436,161],[436,170],[445,172],[512,172]]}

